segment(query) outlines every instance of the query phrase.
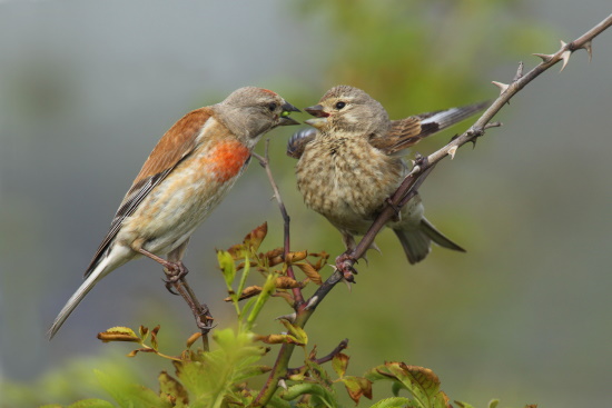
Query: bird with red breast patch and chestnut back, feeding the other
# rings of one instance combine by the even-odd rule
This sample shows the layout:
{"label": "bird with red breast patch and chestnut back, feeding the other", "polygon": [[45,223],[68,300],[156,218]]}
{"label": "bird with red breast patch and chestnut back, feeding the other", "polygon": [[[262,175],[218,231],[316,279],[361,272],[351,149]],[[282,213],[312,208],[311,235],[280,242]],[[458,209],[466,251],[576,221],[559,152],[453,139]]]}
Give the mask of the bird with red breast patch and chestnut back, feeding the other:
{"label": "bird with red breast patch and chestnut back, feeding the other", "polygon": [[49,339],[100,279],[128,261],[148,257],[185,271],[181,259],[191,233],[243,173],[261,136],[299,123],[290,112],[299,109],[279,94],[244,87],[179,119],[145,161]]}

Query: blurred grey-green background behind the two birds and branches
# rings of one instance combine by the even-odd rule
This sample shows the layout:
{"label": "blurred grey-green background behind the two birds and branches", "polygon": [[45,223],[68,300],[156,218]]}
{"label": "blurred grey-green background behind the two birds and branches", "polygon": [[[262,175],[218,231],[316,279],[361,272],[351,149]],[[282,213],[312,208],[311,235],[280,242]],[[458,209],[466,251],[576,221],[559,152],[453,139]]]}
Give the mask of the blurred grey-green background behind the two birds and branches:
{"label": "blurred grey-green background behind the two birds and branches", "polygon": [[[46,339],[132,178],[185,112],[246,84],[305,107],[348,83],[394,119],[490,99],[492,80],[510,81],[520,60],[532,68],[532,52],[556,51],[559,39],[610,11],[608,0],[0,1],[0,407],[108,398],[93,368],[155,387],[158,360],[124,358],[129,347],[96,334],[158,322],[161,341],[194,331],[160,268],[140,260],[102,280]],[[467,253],[434,248],[411,267],[395,236],[382,233],[383,256],[371,252],[353,290],[338,286],[307,326],[320,355],[348,338],[351,374],[404,360],[481,407],[493,397],[503,407],[605,406],[611,36],[595,39],[592,63],[580,51],[562,73],[532,82],[496,118],[504,127],[422,187],[428,219]],[[467,125],[416,150],[428,153]],[[295,188],[284,155],[293,130],[270,135],[293,246],[335,257],[339,233]],[[270,196],[264,171],[250,166],[191,240],[189,281],[221,327],[233,311],[214,249],[264,220],[265,247],[280,246]],[[286,312],[270,303],[258,330],[280,331],[272,319]]]}

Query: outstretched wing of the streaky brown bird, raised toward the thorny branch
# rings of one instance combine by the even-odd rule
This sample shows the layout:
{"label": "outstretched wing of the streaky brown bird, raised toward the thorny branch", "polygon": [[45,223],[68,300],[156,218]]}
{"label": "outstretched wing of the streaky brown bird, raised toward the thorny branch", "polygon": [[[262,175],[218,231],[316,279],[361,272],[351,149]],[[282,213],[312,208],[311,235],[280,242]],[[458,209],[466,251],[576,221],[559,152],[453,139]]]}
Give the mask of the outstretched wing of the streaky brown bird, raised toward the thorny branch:
{"label": "outstretched wing of the streaky brown bird, raised toward the thorny branch", "polygon": [[397,155],[430,135],[446,129],[488,106],[488,101],[460,108],[421,113],[393,120],[387,135],[369,139],[369,143],[387,155]]}

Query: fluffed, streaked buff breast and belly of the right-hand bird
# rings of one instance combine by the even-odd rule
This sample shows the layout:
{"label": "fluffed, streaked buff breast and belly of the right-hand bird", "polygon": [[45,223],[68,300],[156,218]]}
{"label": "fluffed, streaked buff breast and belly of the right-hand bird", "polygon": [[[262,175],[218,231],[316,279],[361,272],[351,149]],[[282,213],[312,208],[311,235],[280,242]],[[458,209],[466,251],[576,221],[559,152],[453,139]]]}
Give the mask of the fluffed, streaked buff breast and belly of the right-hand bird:
{"label": "fluffed, streaked buff breast and belly of the right-hand bird", "polygon": [[296,167],[305,203],[336,227],[357,233],[369,227],[404,173],[401,159],[384,155],[364,138],[314,140]]}

